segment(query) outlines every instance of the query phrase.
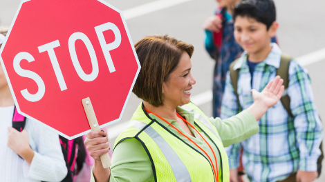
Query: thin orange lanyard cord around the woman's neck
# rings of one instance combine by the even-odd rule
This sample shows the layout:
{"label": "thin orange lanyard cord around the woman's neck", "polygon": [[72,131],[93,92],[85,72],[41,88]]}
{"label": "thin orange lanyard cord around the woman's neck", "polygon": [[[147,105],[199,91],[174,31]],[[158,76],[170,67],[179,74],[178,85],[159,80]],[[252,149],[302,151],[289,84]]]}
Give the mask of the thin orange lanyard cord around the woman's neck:
{"label": "thin orange lanyard cord around the woman's neck", "polygon": [[[151,114],[154,114],[156,117],[162,119],[163,121],[165,121],[166,123],[168,123],[171,127],[173,127],[175,130],[177,130],[180,134],[182,134],[182,135],[185,136],[187,139],[189,139],[188,136],[186,136],[185,134],[183,134],[183,132],[180,132],[180,130],[178,130],[174,125],[171,125],[171,123],[169,123],[168,121],[166,121],[165,119],[163,119],[163,117],[160,117],[160,116],[158,116],[157,114],[155,114],[155,113],[153,113],[153,112],[150,112],[150,111],[147,110],[146,108],[145,108],[145,110],[146,110],[147,112],[151,113]],[[195,128],[191,123],[189,123],[188,121],[186,121],[186,119],[183,119],[183,117],[180,117],[180,115],[179,115],[178,113],[176,113],[176,114],[177,114],[177,116],[178,116],[180,119],[182,119],[183,121],[185,121],[185,123],[189,124],[189,125],[190,125],[194,130],[196,130],[196,128]],[[198,132],[198,130],[196,130],[196,132]],[[201,136],[201,138],[205,141],[205,143],[207,143],[207,141],[203,138],[203,136],[200,134],[200,132],[198,132],[198,134],[199,134],[199,135]],[[203,150],[203,148],[201,148],[200,146],[198,146],[198,144],[196,144],[194,141],[192,141],[192,139],[189,139],[189,141],[191,141],[192,143],[194,143],[194,145],[196,145],[196,147],[198,147],[199,149],[201,149],[201,150],[205,153],[205,155],[207,155],[207,157],[209,158],[210,163],[211,163],[211,165],[212,165],[213,172],[214,172],[214,176],[216,176],[216,181],[219,181],[219,172],[218,172],[218,170],[216,170],[216,168],[218,168],[218,162],[216,161],[216,168],[214,168],[214,164],[213,164],[213,162],[212,162],[210,156],[207,154],[207,152],[205,152],[205,150]],[[212,153],[213,153],[213,155],[214,155],[214,159],[216,160],[216,154],[214,154],[214,151],[212,150],[210,144],[207,143],[207,145],[209,145],[209,148],[210,148],[210,150],[212,151]]]}

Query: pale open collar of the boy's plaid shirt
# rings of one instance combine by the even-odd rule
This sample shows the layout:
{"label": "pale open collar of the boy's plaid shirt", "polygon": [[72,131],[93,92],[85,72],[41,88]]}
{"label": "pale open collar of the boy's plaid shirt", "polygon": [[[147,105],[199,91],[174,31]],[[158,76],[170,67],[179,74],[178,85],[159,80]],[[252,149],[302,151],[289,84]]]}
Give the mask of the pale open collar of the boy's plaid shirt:
{"label": "pale open collar of the boy's plaid shirt", "polygon": [[[266,63],[267,65],[272,65],[275,68],[279,68],[282,52],[279,48],[279,45],[277,45],[277,43],[270,43],[270,45],[272,46],[272,50],[268,54],[268,57],[266,57],[266,59],[264,61],[262,61],[261,63]],[[239,60],[235,63],[233,69],[237,70],[239,68],[240,69],[245,68],[245,66],[247,66],[247,64],[246,64],[247,57],[248,57],[247,52],[246,51],[243,52],[243,54],[241,54],[241,57],[239,58]]]}

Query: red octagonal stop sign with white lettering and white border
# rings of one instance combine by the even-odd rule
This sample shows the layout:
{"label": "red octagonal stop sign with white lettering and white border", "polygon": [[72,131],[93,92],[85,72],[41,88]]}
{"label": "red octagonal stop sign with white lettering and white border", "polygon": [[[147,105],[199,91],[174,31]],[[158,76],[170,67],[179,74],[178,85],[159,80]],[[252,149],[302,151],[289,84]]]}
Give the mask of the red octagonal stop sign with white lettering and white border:
{"label": "red octagonal stop sign with white lettering and white border", "polygon": [[0,50],[17,109],[67,139],[119,121],[140,71],[120,10],[102,0],[22,1]]}

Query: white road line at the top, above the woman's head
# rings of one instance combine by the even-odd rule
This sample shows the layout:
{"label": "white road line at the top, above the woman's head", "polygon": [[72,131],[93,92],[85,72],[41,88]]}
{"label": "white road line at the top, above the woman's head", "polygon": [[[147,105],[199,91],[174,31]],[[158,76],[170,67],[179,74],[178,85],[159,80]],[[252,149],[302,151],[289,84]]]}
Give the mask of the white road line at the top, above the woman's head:
{"label": "white road line at the top, above the woman's head", "polygon": [[145,3],[143,5],[136,6],[134,8],[130,8],[122,12],[124,18],[128,20],[128,19],[140,17],[144,14],[149,14],[151,12],[156,12],[158,10],[169,8],[171,6],[176,6],[180,3],[185,3],[187,1],[192,1],[192,0],[158,0],[158,1],[153,1],[151,3]]}

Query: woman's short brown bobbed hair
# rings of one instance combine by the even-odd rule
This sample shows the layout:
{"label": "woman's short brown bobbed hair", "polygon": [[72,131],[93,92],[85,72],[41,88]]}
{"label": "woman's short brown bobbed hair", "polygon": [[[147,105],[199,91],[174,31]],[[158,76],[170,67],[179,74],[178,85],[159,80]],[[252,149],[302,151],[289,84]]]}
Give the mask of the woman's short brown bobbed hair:
{"label": "woman's short brown bobbed hair", "polygon": [[177,68],[183,52],[192,57],[194,47],[167,34],[145,37],[134,47],[142,68],[132,92],[151,105],[163,105],[163,82]]}

